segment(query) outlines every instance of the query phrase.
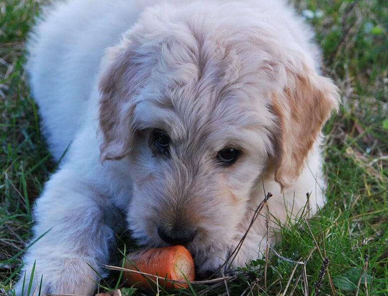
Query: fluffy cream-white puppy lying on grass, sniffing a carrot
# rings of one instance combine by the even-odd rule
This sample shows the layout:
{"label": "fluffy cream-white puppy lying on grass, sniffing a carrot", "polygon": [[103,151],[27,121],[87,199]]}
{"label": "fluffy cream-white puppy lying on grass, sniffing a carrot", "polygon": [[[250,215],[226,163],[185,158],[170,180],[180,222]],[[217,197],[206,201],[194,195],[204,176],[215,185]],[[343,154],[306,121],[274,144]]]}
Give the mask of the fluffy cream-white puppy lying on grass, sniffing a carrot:
{"label": "fluffy cream-white puppy lying on grass, sniffing a carrot", "polygon": [[272,227],[324,204],[320,131],[339,95],[310,29],[279,0],[159,2],[60,1],[31,36],[43,131],[67,152],[17,295],[24,277],[92,294],[119,227],[185,245],[198,273],[244,266],[275,240],[263,212],[226,262],[266,192]]}

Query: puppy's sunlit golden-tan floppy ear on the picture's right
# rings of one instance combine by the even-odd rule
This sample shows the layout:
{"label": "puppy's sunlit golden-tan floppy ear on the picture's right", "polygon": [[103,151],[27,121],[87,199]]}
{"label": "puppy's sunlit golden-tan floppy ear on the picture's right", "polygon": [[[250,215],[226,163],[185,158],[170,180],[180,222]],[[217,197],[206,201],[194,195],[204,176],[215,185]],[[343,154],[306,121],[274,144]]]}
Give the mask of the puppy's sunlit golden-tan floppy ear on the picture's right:
{"label": "puppy's sunlit golden-tan floppy ear on the picture's right", "polygon": [[333,82],[314,70],[287,72],[283,92],[273,94],[273,109],[279,119],[275,179],[282,189],[290,187],[299,176],[323,124],[338,109],[340,100]]}

